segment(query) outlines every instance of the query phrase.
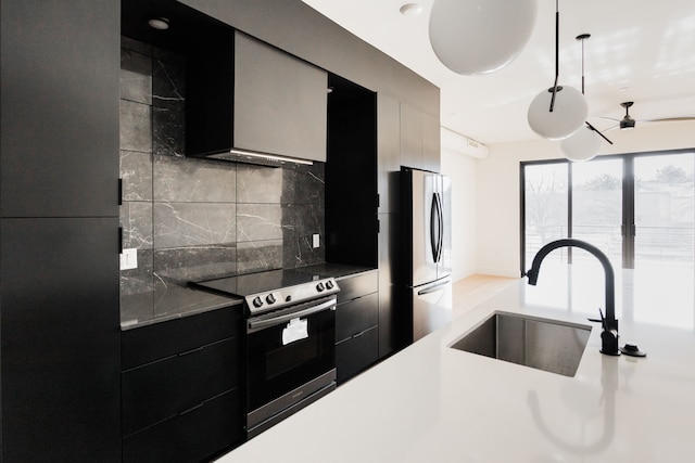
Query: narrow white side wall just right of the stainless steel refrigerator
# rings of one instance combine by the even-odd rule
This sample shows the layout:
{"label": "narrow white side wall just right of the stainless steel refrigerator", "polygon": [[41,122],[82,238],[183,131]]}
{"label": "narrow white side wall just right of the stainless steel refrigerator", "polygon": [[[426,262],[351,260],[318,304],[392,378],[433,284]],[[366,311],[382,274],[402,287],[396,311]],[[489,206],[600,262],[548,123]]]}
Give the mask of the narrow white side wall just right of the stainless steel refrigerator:
{"label": "narrow white side wall just right of the stainless steel refrigerator", "polygon": [[457,281],[477,272],[476,158],[444,150],[441,171],[452,179],[452,276]]}

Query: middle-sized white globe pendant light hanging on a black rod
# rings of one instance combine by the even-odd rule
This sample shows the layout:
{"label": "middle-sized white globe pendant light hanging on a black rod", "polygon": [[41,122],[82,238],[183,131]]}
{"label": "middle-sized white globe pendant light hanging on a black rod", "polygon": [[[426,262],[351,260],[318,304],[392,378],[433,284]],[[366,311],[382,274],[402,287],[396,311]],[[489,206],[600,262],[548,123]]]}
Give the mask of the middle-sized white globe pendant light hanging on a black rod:
{"label": "middle-sized white globe pendant light hanging on a black rod", "polygon": [[586,120],[589,105],[584,95],[572,87],[558,87],[553,111],[553,89],[543,90],[529,106],[529,126],[548,140],[561,140],[574,133]]}

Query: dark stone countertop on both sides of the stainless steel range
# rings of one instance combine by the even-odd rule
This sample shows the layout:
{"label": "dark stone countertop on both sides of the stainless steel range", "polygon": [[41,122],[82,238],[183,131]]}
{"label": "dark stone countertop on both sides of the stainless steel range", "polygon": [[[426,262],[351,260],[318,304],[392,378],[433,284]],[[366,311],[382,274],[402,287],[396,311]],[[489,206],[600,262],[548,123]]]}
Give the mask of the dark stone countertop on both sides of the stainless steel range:
{"label": "dark stone countertop on both sides of the stainless steel range", "polygon": [[[341,279],[376,269],[343,263],[317,263],[295,270],[314,273],[320,278]],[[243,299],[239,297],[227,297],[192,287],[170,285],[163,291],[122,296],[121,330],[132,330],[230,306],[241,308],[242,304]]]}

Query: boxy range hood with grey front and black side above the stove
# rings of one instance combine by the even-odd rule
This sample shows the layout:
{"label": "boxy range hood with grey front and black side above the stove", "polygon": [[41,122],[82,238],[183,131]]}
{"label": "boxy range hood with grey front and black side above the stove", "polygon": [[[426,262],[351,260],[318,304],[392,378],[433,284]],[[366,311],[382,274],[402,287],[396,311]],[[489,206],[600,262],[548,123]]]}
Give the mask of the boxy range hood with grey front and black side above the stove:
{"label": "boxy range hood with grey front and black side above the stove", "polygon": [[187,56],[186,156],[326,162],[327,73],[241,31],[219,34]]}

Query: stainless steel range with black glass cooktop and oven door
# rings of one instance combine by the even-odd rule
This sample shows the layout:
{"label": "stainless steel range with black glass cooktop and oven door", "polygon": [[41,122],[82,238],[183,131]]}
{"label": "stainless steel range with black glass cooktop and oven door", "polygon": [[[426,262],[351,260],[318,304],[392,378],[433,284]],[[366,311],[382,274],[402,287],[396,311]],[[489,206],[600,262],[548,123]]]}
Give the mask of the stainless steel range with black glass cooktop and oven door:
{"label": "stainless steel range with black glass cooktop and oven door", "polygon": [[193,285],[244,298],[248,438],[336,388],[333,278],[286,269]]}

